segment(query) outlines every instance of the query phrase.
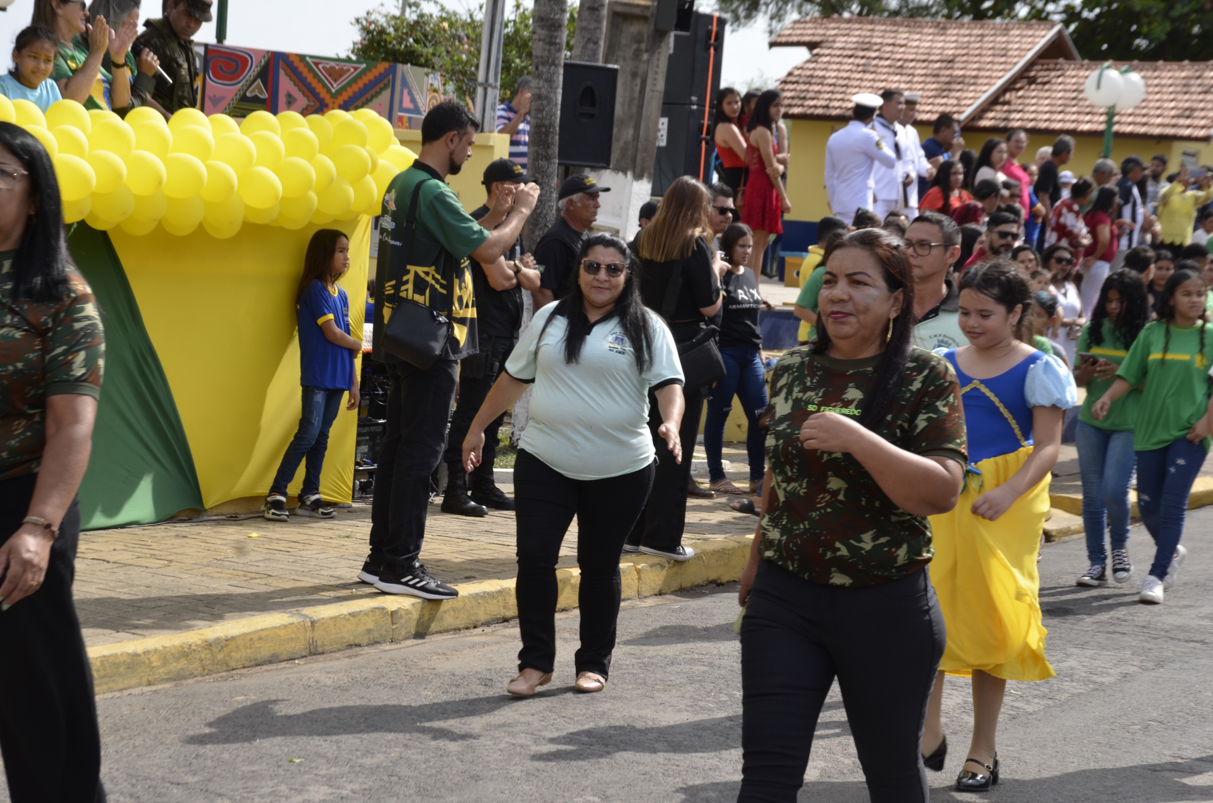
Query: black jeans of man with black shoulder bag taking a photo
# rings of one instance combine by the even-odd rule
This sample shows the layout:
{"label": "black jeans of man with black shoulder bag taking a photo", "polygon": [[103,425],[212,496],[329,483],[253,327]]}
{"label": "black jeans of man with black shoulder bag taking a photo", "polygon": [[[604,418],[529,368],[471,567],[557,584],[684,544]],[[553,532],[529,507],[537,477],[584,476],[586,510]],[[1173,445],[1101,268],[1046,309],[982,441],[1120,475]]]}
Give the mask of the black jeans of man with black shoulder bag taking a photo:
{"label": "black jeans of man with black shoulder bag taking a photo", "polygon": [[403,571],[417,562],[426,537],[429,475],[443,457],[459,363],[422,370],[389,364],[387,432],[380,446],[371,503],[371,564]]}

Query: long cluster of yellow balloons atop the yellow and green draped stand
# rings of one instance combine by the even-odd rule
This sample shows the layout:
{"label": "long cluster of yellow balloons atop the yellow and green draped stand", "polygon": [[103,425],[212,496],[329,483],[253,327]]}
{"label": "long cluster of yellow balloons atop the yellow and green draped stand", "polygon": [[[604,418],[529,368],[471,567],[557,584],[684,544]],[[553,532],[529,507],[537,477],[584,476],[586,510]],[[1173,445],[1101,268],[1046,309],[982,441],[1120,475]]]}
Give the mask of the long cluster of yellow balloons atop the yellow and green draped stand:
{"label": "long cluster of yellow balloons atop the yellow and green draped stand", "polygon": [[226,114],[113,112],[59,101],[42,114],[0,96],[0,120],[46,147],[66,223],[184,237],[199,226],[227,239],[252,223],[301,229],[377,213],[388,183],[416,159],[370,109]]}

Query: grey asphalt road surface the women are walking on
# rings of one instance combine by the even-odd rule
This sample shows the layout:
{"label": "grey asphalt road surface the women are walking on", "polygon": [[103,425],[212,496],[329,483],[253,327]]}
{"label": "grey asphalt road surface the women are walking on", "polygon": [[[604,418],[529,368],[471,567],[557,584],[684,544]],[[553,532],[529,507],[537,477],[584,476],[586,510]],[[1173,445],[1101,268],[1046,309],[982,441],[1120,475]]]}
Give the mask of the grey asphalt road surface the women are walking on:
{"label": "grey asphalt road surface the women are walking on", "polygon": [[[1167,603],[1083,590],[1082,541],[1048,545],[1041,600],[1058,677],[1012,683],[1000,733],[1003,803],[1213,801],[1213,508],[1189,519],[1190,556]],[[1152,542],[1134,528],[1145,570]],[[116,802],[729,802],[740,780],[734,587],[628,605],[610,684],[573,693],[576,613],[558,620],[548,690],[512,700],[517,630],[500,625],[351,650],[98,701]],[[889,671],[896,671],[890,656]],[[968,741],[952,679],[950,791]],[[296,759],[296,761],[290,761]],[[841,700],[818,727],[801,801],[867,801]]]}

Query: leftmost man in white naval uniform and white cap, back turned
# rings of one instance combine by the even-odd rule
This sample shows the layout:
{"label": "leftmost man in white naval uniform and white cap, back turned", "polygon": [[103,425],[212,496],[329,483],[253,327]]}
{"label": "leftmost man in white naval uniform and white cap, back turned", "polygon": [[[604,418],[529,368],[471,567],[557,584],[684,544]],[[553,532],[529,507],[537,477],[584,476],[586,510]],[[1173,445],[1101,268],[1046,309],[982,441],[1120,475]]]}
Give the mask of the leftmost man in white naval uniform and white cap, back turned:
{"label": "leftmost man in white naval uniform and white cap, back turned", "polygon": [[885,169],[896,163],[893,152],[869,127],[881,96],[861,92],[850,99],[855,104],[854,119],[830,135],[825,167],[830,210],[848,226],[855,220],[856,211],[872,209],[872,171],[877,163]]}

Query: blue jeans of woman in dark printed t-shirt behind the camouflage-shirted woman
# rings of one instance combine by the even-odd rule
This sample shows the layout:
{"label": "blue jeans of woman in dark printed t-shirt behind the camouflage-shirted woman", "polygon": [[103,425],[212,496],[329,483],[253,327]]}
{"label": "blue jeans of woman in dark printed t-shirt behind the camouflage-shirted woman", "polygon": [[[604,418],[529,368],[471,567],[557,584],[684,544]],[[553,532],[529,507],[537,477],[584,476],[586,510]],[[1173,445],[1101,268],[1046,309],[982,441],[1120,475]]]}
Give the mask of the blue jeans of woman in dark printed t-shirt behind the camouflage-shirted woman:
{"label": "blue jeans of woman in dark printed t-shirt behind the camouflage-shirted woman", "polygon": [[758,427],[758,416],[767,408],[767,382],[763,378],[762,360],[757,346],[728,346],[721,349],[727,374],[716,383],[707,402],[707,418],[704,422],[704,451],[707,452],[707,471],[711,482],[724,479],[721,450],[724,448],[724,422],[733,410],[733,397],[741,399],[746,411],[746,455],[750,460],[750,482],[762,482],[765,454],[765,437]]}

